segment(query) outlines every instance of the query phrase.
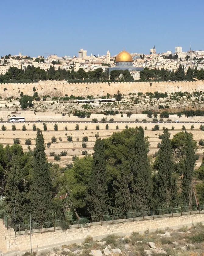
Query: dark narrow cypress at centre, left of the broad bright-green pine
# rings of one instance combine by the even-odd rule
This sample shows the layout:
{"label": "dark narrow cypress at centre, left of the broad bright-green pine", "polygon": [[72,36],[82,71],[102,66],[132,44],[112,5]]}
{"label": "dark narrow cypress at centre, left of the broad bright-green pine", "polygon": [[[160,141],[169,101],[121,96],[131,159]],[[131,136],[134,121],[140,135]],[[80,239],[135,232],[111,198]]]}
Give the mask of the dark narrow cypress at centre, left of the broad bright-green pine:
{"label": "dark narrow cypress at centre, left of the broad bright-green pine", "polygon": [[94,145],[90,190],[87,197],[89,213],[97,216],[107,214],[109,207],[104,149],[104,142],[101,138],[97,139]]}

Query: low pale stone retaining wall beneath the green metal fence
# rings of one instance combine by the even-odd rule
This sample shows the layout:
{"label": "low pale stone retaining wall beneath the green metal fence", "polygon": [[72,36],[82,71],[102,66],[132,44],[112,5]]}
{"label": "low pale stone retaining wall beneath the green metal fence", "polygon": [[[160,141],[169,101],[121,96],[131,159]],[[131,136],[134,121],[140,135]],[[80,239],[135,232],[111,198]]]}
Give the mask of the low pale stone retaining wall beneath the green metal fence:
{"label": "low pale stone retaining wall beneath the green metal fence", "polygon": [[[33,251],[35,251],[37,248],[43,246],[49,248],[49,245],[51,247],[59,243],[72,243],[71,241],[74,242],[74,240],[85,239],[86,236],[97,238],[99,236],[105,237],[109,234],[125,235],[132,232],[143,233],[147,229],[151,231],[156,229],[165,229],[167,227],[179,228],[183,225],[191,226],[192,224],[198,222],[204,223],[204,214],[185,215],[182,217],[170,217],[145,221],[129,221],[117,224],[106,224],[102,226],[94,225],[87,228],[73,228],[65,231],[57,230],[55,232],[34,233],[32,234],[32,248]],[[4,231],[3,236],[5,236],[6,239],[6,248],[5,243],[2,243],[1,240],[0,250],[9,252],[15,250],[22,251],[30,249],[30,235],[15,236],[13,229],[8,229],[7,231],[2,226],[3,221],[0,221],[0,230]]]}

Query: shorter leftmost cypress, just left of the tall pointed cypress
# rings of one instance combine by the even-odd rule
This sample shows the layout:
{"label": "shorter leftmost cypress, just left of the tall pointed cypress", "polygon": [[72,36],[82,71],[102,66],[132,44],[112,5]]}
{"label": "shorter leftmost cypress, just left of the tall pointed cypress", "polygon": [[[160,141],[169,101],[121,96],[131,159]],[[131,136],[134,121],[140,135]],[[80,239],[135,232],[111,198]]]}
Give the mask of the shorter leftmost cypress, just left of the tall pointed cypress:
{"label": "shorter leftmost cypress, just left of the tall pointed cypress", "polygon": [[29,203],[26,197],[26,184],[20,161],[21,158],[19,156],[13,155],[5,187],[6,211],[16,224],[22,223],[26,217],[28,218]]}

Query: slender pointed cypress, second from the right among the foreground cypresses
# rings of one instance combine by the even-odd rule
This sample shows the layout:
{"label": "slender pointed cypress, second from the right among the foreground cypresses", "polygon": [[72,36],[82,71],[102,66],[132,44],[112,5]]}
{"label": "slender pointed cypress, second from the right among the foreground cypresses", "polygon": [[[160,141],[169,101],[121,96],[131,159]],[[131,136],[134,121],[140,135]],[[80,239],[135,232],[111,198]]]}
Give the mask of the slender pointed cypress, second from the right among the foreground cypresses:
{"label": "slender pointed cypress, second from the right among the foreground cypresses", "polygon": [[168,129],[164,129],[161,147],[155,161],[155,168],[158,170],[158,195],[160,206],[169,208],[174,206],[176,199],[176,184],[173,178],[174,162],[171,140]]}

